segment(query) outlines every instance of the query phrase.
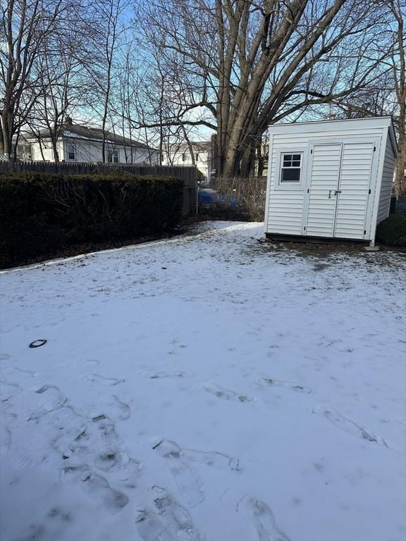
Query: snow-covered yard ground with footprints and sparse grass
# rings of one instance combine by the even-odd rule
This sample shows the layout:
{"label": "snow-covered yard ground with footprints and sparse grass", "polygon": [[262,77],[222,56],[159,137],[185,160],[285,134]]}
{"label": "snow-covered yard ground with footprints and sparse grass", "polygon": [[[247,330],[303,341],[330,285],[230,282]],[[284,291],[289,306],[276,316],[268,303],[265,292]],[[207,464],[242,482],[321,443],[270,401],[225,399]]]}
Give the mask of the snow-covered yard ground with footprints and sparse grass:
{"label": "snow-covered yard ground with footprints and sparse grass", "polygon": [[197,229],[2,273],[1,540],[404,540],[405,260]]}

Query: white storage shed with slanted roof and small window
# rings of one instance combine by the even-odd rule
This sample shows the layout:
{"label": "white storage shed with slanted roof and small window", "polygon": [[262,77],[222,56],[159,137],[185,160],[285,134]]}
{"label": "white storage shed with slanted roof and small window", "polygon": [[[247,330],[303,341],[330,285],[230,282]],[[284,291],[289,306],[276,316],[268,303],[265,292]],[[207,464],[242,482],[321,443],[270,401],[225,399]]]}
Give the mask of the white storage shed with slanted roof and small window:
{"label": "white storage shed with slanted roof and small window", "polygon": [[397,144],[390,117],[269,127],[267,237],[369,241],[389,214]]}

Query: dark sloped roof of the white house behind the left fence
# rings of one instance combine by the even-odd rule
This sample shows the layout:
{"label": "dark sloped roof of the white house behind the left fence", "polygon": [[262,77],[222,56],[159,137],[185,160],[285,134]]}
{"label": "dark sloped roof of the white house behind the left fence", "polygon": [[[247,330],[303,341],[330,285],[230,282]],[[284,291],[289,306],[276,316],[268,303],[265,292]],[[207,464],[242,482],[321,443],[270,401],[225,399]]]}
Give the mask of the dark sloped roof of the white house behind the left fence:
{"label": "dark sloped roof of the white house behind the left fence", "polygon": [[[104,132],[106,137],[106,142],[113,144],[123,144],[128,147],[137,147],[140,149],[153,149],[147,144],[140,143],[135,139],[130,139],[129,137],[123,137],[122,135],[117,135],[113,132]],[[44,129],[39,130],[35,135],[33,133],[27,134],[26,139],[49,139],[51,137],[50,130]],[[91,128],[89,126],[80,125],[80,124],[70,124],[64,123],[61,128],[61,137],[66,137],[68,139],[89,139],[91,141],[102,141],[103,140],[103,130],[101,128]]]}

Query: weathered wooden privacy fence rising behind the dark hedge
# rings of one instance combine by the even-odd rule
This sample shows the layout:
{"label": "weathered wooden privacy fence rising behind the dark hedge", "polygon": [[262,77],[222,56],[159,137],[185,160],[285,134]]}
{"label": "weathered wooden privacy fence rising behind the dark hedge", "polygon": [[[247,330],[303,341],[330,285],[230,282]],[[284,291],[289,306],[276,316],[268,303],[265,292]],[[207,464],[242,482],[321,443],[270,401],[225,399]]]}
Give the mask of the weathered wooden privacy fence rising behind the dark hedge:
{"label": "weathered wooden privacy fence rising behind the dark hedge", "polygon": [[91,173],[133,173],[142,176],[176,177],[183,180],[183,216],[197,213],[196,168],[192,166],[144,166],[137,163],[70,163],[62,161],[0,161],[1,173],[60,173],[61,175],[88,175]]}

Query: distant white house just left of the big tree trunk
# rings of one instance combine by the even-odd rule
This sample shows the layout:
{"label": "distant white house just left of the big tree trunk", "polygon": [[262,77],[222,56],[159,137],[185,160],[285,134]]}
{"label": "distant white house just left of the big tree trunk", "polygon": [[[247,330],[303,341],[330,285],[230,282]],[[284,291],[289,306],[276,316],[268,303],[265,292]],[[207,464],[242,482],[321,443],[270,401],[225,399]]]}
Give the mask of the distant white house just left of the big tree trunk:
{"label": "distant white house just left of the big tree trunk", "polygon": [[[192,149],[192,150],[191,150]],[[193,163],[191,151],[195,163]],[[202,173],[206,179],[211,173],[211,142],[191,142],[190,146],[185,143],[173,143],[169,145],[167,152],[162,156],[163,166],[192,166]]]}

